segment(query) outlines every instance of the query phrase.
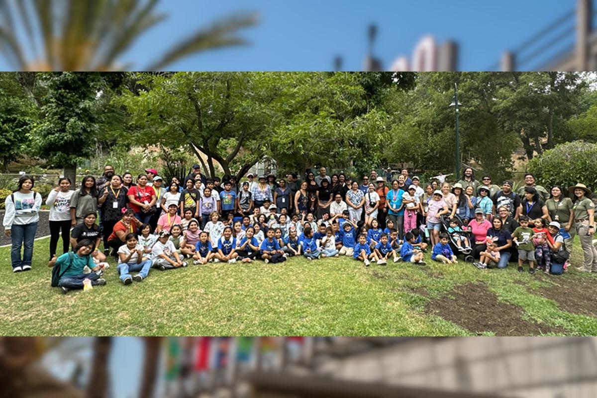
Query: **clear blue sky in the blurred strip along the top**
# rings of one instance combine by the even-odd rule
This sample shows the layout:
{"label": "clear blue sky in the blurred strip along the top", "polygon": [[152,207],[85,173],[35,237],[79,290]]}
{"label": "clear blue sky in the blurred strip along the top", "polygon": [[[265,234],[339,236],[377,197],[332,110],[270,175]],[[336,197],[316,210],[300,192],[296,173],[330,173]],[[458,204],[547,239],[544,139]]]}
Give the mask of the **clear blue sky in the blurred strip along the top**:
{"label": "clear blue sky in the blurred strip along the top", "polygon": [[[458,42],[461,70],[484,70],[495,64],[503,51],[517,47],[574,10],[576,3],[576,0],[161,0],[158,7],[169,15],[168,19],[146,32],[121,61],[141,69],[177,39],[208,26],[216,18],[256,11],[260,23],[241,32],[251,42],[250,46],[198,54],[173,64],[170,69],[331,70],[334,57],[341,55],[343,70],[362,70],[367,53],[367,27],[376,23],[374,54],[381,58],[386,69],[399,55],[410,58],[417,41],[430,34],[440,43],[446,39]],[[574,18],[568,22],[573,26]],[[558,34],[557,29],[551,33]],[[569,41],[573,36],[574,32],[570,32]],[[544,51],[557,50],[549,44]],[[0,60],[0,69],[6,68]]]}

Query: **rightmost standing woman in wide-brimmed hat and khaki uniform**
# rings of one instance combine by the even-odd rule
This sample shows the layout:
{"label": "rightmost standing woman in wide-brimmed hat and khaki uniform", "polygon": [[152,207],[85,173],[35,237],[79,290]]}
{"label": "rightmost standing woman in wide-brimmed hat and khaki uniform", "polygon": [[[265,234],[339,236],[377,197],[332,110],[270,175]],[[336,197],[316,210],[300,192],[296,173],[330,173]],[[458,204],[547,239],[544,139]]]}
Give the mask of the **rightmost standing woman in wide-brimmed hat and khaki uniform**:
{"label": "rightmost standing woman in wide-brimmed hat and khaki uniform", "polygon": [[593,245],[593,234],[595,233],[595,203],[587,196],[591,191],[584,184],[576,184],[570,187],[571,196],[574,194],[574,228],[580,240],[580,247],[583,248],[583,266],[577,270],[583,272],[597,272],[597,249]]}

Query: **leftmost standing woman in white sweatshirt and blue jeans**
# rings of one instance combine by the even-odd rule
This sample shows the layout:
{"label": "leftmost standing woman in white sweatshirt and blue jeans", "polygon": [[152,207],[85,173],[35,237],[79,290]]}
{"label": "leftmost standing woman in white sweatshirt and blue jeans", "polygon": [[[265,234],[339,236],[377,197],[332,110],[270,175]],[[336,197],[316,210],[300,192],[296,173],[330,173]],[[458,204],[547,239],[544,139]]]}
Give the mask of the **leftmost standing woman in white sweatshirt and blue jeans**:
{"label": "leftmost standing woman in white sweatshirt and blue jeans", "polygon": [[[41,195],[33,192],[33,178],[23,175],[19,178],[17,190],[4,201],[4,235],[10,237],[13,245],[10,249],[10,261],[13,272],[29,271],[33,258],[33,239],[39,221]],[[21,246],[23,258],[21,260]]]}

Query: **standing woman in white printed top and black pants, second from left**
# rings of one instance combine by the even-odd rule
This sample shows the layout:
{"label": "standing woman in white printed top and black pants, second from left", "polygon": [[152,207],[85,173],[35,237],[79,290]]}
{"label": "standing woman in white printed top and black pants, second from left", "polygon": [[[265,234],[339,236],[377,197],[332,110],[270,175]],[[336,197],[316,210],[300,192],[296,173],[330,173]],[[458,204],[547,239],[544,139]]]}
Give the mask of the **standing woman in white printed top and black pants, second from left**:
{"label": "standing woman in white printed top and black pants, second from left", "polygon": [[58,186],[51,190],[45,204],[50,206],[50,260],[56,254],[58,239],[62,232],[62,252],[69,252],[70,198],[75,191],[70,189],[70,179],[61,177]]}

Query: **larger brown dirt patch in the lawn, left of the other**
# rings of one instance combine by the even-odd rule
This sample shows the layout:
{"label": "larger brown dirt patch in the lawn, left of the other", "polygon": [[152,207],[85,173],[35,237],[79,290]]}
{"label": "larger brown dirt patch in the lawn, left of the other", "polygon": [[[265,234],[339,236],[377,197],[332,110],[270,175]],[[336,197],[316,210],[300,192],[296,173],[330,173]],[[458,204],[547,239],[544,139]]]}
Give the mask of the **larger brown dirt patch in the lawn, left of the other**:
{"label": "larger brown dirt patch in the lawn, left of the other", "polygon": [[535,336],[564,329],[524,319],[524,310],[497,300],[483,283],[456,286],[450,293],[430,301],[429,313],[450,320],[471,332],[493,332],[498,336]]}

